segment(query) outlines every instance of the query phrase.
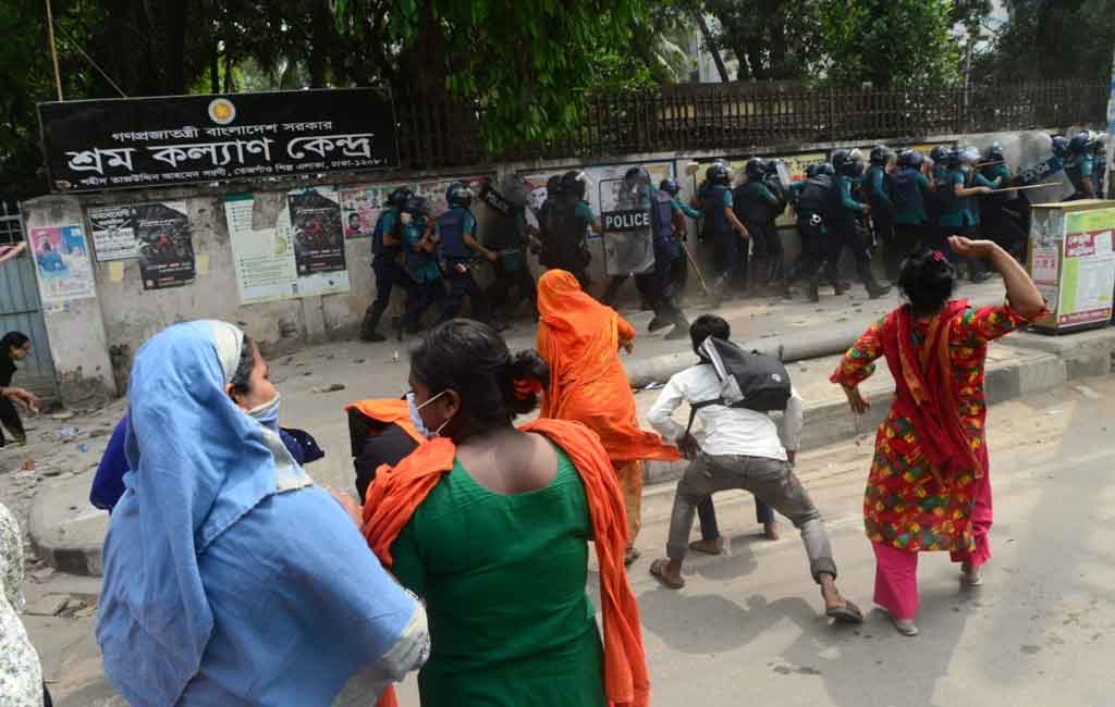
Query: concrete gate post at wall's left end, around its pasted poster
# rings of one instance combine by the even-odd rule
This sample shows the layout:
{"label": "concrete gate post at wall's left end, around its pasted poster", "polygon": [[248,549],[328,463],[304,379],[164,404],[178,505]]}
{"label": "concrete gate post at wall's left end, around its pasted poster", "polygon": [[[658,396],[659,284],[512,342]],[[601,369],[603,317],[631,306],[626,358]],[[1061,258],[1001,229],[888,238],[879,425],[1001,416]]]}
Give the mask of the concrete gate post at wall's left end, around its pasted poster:
{"label": "concrete gate post at wall's left end, around its pasted poster", "polygon": [[[86,228],[81,204],[72,196],[43,196],[20,204],[28,233],[40,226]],[[88,237],[88,232],[86,233]],[[42,320],[50,340],[50,356],[58,390],[67,405],[115,397],[118,392],[108,355],[105,318],[97,297],[43,304]]]}

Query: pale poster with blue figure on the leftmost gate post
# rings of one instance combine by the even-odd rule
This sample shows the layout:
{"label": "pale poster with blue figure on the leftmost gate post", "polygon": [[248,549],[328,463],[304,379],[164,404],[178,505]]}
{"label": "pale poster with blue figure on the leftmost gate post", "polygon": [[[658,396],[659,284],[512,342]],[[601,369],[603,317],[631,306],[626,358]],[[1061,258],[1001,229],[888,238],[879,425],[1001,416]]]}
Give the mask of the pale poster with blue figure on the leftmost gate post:
{"label": "pale poster with blue figure on the leftmost gate post", "polygon": [[30,247],[45,304],[97,296],[93,263],[81,226],[43,226],[30,229]]}

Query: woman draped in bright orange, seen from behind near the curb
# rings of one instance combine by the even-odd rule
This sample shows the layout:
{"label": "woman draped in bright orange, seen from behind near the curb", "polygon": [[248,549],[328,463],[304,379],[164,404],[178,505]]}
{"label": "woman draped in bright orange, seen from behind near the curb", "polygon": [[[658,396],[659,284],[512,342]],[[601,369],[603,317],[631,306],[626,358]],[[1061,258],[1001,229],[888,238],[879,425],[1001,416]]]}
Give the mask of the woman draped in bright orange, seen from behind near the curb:
{"label": "woman draped in bright orange, seen from behind near the curb", "polygon": [[628,517],[626,562],[639,557],[642,462],[680,459],[676,446],[639,429],[634,395],[619,350],[633,350],[634,327],[581,289],[565,271],[539,279],[539,353],[550,364],[550,386],[541,418],[580,422],[600,435],[620,487]]}

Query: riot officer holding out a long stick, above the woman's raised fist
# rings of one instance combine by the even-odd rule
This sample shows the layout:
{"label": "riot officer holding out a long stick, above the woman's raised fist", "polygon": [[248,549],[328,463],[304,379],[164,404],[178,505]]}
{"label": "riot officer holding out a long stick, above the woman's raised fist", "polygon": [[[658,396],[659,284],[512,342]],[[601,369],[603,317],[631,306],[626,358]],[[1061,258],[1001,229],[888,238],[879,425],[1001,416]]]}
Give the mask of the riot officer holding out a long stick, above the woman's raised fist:
{"label": "riot officer holding out a long stick, above the woman's raised fist", "polygon": [[[938,185],[941,204],[937,219],[939,240],[944,240],[946,254],[953,262],[959,257],[949,248],[947,240],[950,234],[964,237],[976,237],[979,234],[979,204],[977,196],[991,194],[999,186],[998,178],[988,180],[976,171],[976,163],[980,159],[979,150],[971,146],[954,147],[948,154],[948,169],[944,184]],[[987,282],[990,275],[981,258],[969,258],[968,277],[973,283]]]}

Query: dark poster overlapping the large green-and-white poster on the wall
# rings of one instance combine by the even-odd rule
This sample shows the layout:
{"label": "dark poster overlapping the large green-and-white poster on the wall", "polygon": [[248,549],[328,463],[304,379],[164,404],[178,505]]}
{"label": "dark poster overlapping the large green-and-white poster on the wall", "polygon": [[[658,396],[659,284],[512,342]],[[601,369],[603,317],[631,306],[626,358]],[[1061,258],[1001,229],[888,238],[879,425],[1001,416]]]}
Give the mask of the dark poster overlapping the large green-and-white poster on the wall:
{"label": "dark poster overlapping the large green-and-white poster on the wall", "polygon": [[345,236],[337,190],[316,187],[287,197],[299,277],[343,271]]}

